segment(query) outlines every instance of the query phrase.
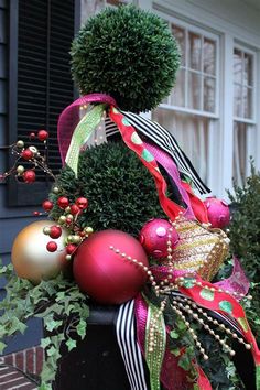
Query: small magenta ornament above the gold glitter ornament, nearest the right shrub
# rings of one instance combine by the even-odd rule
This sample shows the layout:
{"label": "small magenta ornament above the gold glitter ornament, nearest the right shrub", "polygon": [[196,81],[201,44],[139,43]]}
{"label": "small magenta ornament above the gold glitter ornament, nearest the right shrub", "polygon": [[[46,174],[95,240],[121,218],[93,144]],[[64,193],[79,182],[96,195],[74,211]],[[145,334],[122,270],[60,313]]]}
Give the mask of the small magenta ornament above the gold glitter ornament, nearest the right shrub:
{"label": "small magenta ornament above the gold glitter ornament, nearest the right shrub", "polygon": [[225,228],[230,221],[230,212],[225,201],[216,197],[207,197],[205,201],[208,220],[213,228]]}

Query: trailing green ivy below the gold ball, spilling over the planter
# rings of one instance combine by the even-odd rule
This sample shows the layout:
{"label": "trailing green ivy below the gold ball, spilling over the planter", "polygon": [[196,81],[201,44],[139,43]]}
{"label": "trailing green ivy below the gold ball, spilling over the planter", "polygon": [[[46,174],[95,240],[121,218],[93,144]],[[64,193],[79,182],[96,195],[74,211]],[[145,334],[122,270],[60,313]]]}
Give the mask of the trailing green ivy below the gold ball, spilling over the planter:
{"label": "trailing green ivy below the gold ball, spilling over the planter", "polygon": [[73,281],[62,275],[35,286],[14,275],[12,266],[1,266],[0,274],[7,280],[6,297],[0,302],[3,312],[0,317],[1,351],[9,337],[24,333],[29,318],[42,318],[45,337],[41,346],[45,349],[45,361],[39,386],[42,390],[52,389],[62,344],[69,351],[86,335],[89,315],[86,296]]}

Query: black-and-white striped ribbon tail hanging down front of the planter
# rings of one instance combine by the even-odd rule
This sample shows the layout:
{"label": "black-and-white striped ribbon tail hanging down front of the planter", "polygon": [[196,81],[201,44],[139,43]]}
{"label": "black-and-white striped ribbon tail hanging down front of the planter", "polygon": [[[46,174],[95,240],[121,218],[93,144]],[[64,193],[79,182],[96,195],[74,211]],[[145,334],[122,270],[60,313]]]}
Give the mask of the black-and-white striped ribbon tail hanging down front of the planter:
{"label": "black-and-white striped ribbon tail hanging down front of the planter", "polygon": [[148,390],[142,354],[137,342],[133,305],[132,300],[119,308],[116,324],[117,340],[131,390]]}

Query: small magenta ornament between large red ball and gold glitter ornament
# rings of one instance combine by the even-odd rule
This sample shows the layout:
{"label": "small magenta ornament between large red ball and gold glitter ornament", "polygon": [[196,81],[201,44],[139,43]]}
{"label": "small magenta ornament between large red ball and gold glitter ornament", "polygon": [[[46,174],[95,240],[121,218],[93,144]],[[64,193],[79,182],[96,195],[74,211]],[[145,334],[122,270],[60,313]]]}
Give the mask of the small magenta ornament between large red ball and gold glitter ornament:
{"label": "small magenta ornament between large red ball and gold glitter ornament", "polygon": [[[167,220],[160,218],[149,220],[143,225],[139,240],[148,254],[155,259],[163,259],[167,256],[167,235],[171,227]],[[173,229],[171,236],[172,249],[174,249],[178,242],[178,234]]]}

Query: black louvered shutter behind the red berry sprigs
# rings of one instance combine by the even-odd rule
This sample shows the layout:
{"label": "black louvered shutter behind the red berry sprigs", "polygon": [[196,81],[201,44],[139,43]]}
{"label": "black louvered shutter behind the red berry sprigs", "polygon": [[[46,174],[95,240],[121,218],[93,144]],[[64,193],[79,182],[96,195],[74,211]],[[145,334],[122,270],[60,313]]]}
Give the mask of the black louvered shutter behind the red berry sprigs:
{"label": "black louvered shutter behind the red berry sprigs", "polygon": [[[11,142],[18,138],[29,142],[30,132],[46,129],[50,132],[47,165],[54,174],[61,169],[57,119],[61,111],[74,100],[69,50],[75,33],[76,2],[13,0],[11,8]],[[31,142],[43,151],[43,143],[37,140]],[[36,171],[34,184],[12,180],[9,204],[37,205],[47,195],[51,184],[50,177],[41,171]]]}

